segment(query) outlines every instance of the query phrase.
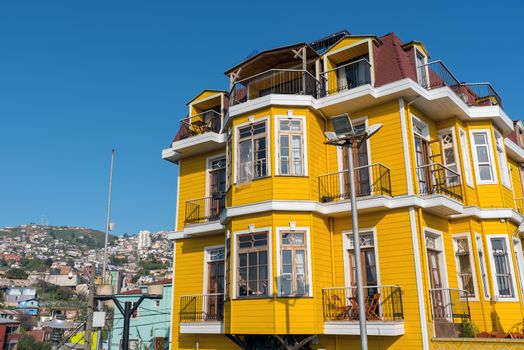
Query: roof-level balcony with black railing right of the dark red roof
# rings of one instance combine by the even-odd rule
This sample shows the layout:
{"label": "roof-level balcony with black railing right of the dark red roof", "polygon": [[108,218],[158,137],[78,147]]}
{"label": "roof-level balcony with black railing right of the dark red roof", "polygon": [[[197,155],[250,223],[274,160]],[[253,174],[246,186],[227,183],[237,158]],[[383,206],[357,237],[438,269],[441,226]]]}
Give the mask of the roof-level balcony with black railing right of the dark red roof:
{"label": "roof-level balcony with black railing right of the dark red roof", "polygon": [[500,106],[502,99],[489,83],[461,83],[442,61],[417,67],[419,84],[432,90],[447,86],[468,106]]}

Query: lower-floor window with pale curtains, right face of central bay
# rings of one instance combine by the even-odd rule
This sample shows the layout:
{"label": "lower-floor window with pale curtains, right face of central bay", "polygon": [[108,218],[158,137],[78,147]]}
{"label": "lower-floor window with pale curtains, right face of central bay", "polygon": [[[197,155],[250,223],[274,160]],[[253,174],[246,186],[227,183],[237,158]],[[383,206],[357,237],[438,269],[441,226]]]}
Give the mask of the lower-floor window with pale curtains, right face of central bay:
{"label": "lower-floor window with pale curtains, right face of central bay", "polygon": [[280,294],[308,294],[307,248],[305,232],[280,233]]}

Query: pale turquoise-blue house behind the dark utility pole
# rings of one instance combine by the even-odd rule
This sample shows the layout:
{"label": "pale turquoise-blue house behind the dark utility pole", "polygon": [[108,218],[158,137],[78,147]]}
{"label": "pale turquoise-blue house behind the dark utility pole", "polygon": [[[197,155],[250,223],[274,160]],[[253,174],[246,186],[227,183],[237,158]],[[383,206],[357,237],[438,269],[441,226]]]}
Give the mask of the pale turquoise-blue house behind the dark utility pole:
{"label": "pale turquoise-blue house behind the dark utility pole", "polygon": [[[162,284],[162,299],[145,299],[131,318],[129,348],[137,350],[168,349],[171,324],[171,298],[173,285],[171,280],[162,280],[151,284]],[[116,294],[123,305],[126,301],[136,302],[141,294],[147,294],[147,286]],[[119,350],[122,341],[124,319],[115,308],[113,334],[109,350]],[[156,346],[156,347],[155,347]]]}

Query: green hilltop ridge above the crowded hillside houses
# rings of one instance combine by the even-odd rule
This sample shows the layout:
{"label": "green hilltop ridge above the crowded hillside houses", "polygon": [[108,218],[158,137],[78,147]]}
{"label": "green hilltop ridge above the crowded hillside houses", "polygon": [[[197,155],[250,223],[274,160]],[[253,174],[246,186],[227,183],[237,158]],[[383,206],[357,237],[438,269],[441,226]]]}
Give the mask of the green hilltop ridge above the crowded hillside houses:
{"label": "green hilltop ridge above the crowded hillside houses", "polygon": [[[44,226],[44,225],[21,225],[5,227],[0,229],[1,236],[43,236],[44,242],[58,240],[67,246],[76,248],[98,249],[104,246],[105,233],[85,227],[72,226]],[[109,236],[109,242],[115,240],[115,236]]]}

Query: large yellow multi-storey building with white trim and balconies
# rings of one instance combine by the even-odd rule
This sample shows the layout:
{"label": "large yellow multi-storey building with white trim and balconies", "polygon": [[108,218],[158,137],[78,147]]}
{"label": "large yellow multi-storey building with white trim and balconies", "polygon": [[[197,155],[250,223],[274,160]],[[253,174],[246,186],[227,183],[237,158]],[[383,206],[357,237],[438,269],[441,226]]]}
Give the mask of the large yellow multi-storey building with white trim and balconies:
{"label": "large yellow multi-storey building with white trim and balconies", "polygon": [[524,346],[457,340],[524,318],[522,123],[491,85],[347,31],[226,75],[162,153],[179,170],[172,349],[358,348],[347,151],[324,136],[344,113],[383,125],[352,150],[370,349]]}

